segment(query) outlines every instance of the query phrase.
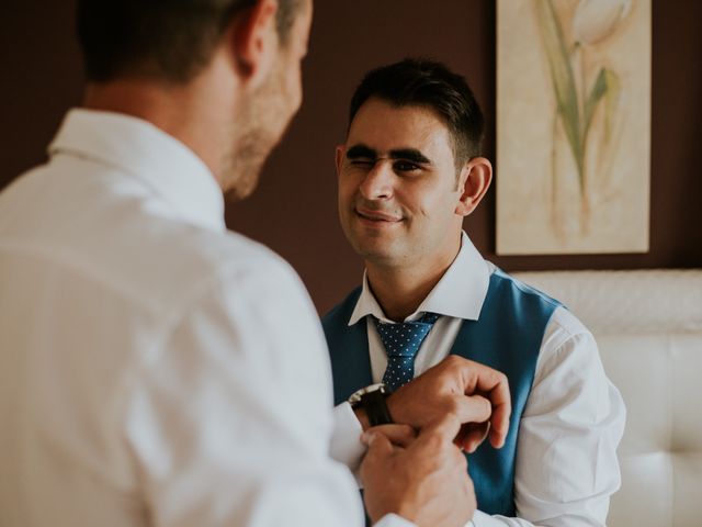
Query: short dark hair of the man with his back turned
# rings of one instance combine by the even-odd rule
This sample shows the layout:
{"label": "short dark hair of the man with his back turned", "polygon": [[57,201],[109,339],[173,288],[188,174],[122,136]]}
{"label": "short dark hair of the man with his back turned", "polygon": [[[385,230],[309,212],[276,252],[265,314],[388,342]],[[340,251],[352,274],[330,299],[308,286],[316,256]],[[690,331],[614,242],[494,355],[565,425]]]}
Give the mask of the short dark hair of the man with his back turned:
{"label": "short dark hair of the man with his back turned", "polygon": [[[229,22],[258,0],[78,0],[86,77],[124,76],[185,82],[206,66]],[[286,45],[302,0],[279,0],[276,29]]]}

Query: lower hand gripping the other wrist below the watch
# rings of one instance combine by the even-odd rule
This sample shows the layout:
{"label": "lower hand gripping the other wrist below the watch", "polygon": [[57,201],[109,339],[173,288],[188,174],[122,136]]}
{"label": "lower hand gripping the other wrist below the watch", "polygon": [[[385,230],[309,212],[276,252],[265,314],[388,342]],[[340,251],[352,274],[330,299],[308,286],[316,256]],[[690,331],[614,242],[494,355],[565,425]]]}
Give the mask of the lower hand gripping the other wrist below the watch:
{"label": "lower hand gripping the other wrist below the watch", "polygon": [[475,513],[467,461],[453,444],[461,423],[445,417],[416,437],[408,425],[383,425],[362,436],[365,508],[375,523],[389,513],[419,527],[465,525]]}

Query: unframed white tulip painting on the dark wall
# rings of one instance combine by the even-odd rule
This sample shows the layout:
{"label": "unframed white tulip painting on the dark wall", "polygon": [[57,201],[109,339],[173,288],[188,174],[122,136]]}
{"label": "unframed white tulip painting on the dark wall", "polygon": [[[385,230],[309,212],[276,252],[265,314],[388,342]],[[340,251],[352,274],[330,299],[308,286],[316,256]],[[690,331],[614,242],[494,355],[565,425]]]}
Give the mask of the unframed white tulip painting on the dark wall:
{"label": "unframed white tulip painting on the dark wall", "polygon": [[497,251],[648,250],[650,0],[498,0]]}

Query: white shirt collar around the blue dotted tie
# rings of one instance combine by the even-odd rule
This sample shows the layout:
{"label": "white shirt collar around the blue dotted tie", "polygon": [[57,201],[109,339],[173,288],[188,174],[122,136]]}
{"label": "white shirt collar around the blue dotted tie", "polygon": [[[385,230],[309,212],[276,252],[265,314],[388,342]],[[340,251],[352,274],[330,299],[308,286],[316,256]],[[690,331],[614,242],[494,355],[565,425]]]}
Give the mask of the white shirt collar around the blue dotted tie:
{"label": "white shirt collar around the blue dotted tie", "polygon": [[[417,311],[405,321],[419,318],[423,313],[477,321],[487,294],[490,274],[494,268],[483,259],[468,236],[463,232],[461,250],[441,280],[434,285]],[[366,315],[373,315],[383,322],[387,318],[375,300],[369,285],[367,274],[363,273],[363,290],[355,304],[349,325],[353,325]]]}

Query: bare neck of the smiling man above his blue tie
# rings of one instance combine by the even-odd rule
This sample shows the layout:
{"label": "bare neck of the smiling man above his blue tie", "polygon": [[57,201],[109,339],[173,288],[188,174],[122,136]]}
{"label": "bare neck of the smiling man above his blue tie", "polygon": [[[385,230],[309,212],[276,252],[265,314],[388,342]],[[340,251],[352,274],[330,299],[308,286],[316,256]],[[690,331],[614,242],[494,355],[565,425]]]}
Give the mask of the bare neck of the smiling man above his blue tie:
{"label": "bare neck of the smiling man above his blue tie", "polygon": [[429,265],[393,267],[366,261],[366,278],[385,315],[401,322],[415,313],[439,283],[457,256],[442,258]]}

